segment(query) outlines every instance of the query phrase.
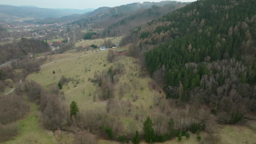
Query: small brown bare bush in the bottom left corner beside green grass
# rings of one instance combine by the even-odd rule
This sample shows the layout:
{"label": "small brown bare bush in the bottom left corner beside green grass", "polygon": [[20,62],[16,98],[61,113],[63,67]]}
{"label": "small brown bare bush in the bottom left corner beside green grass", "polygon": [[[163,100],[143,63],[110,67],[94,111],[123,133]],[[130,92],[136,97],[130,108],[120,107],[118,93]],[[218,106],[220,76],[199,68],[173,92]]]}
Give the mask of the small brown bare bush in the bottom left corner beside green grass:
{"label": "small brown bare bush in the bottom left corner beside green grass", "polygon": [[0,123],[0,142],[8,141],[18,134],[16,124],[2,125]]}

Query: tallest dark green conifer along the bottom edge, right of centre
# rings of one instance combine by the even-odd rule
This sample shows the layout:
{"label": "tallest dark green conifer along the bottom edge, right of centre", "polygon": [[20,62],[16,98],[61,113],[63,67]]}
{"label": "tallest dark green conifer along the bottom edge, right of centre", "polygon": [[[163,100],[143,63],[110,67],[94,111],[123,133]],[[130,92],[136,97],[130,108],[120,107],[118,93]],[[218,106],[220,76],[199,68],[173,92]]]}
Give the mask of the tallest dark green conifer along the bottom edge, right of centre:
{"label": "tallest dark green conifer along the bottom edge, right of centre", "polygon": [[154,140],[154,128],[153,128],[153,122],[150,119],[150,117],[148,117],[146,119],[146,121],[143,123],[143,130],[145,133],[145,140],[146,142],[153,142]]}

